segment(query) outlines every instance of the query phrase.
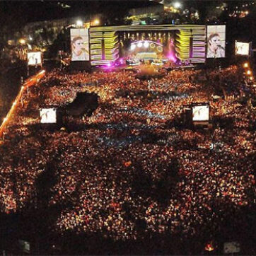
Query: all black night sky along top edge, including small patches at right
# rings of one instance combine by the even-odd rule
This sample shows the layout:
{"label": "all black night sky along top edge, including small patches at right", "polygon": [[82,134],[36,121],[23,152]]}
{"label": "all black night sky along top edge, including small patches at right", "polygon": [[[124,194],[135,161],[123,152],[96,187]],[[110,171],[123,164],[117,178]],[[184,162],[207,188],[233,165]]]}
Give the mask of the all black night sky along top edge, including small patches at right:
{"label": "all black night sky along top edge, including small patches at right", "polygon": [[[170,0],[169,0],[170,1]],[[175,1],[175,0],[173,0]],[[226,0],[228,5],[242,4],[250,1]],[[183,6],[194,6],[195,8],[207,8],[209,3],[222,2],[221,0],[180,0]],[[208,2],[208,3],[207,3]],[[70,8],[63,8],[65,5]],[[123,14],[124,10],[144,6],[157,5],[149,0],[73,0],[73,1],[1,1],[0,0],[0,28],[1,25],[13,24],[23,26],[25,23],[34,21],[47,21],[66,17],[83,17],[90,13],[111,13],[112,16]]]}

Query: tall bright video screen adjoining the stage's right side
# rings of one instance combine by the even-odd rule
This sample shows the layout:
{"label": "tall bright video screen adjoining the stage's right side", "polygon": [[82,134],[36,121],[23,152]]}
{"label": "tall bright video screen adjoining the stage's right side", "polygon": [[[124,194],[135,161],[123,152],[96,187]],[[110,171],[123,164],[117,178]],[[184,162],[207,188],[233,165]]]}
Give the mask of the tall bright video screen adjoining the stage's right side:
{"label": "tall bright video screen adjoining the stage's right side", "polygon": [[207,25],[207,58],[223,58],[226,49],[226,25]]}

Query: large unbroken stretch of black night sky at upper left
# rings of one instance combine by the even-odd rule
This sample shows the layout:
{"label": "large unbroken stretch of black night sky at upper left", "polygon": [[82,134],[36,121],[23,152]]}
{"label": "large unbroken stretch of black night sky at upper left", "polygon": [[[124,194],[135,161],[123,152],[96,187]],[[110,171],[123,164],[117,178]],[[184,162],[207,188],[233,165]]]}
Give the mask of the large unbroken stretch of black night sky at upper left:
{"label": "large unbroken stretch of black night sky at upper left", "polygon": [[[86,13],[103,13],[107,11],[117,11],[136,8],[142,6],[151,6],[156,3],[152,1],[0,1],[1,19],[4,22],[5,17],[18,21],[22,18],[23,22],[45,21],[57,18],[71,16],[85,16]],[[62,6],[69,5],[70,8]]]}

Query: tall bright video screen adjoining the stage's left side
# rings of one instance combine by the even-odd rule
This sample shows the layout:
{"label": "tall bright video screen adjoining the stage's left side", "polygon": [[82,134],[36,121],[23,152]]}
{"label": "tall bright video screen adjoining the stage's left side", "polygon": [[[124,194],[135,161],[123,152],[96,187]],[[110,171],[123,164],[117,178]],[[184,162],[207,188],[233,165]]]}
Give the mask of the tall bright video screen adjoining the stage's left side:
{"label": "tall bright video screen adjoining the stage's left side", "polygon": [[71,61],[88,61],[89,54],[89,35],[87,28],[72,28],[71,37]]}

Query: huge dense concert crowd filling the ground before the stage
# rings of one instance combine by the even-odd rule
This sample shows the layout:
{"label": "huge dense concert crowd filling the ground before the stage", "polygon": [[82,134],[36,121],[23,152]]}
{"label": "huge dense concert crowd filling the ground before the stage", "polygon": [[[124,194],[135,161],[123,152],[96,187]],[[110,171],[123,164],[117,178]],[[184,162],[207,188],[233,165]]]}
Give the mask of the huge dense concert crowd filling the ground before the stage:
{"label": "huge dense concert crowd filling the ground before the stage", "polygon": [[[255,206],[256,137],[255,110],[237,98],[243,88],[237,66],[173,70],[146,81],[121,70],[50,72],[25,93],[0,148],[1,212],[59,206],[50,232],[112,241],[170,234],[198,238],[190,243],[204,248],[219,237],[245,238],[245,211]],[[100,96],[91,117],[39,128],[40,106],[66,105],[80,91]],[[212,129],[176,125],[185,106],[205,102]]]}

